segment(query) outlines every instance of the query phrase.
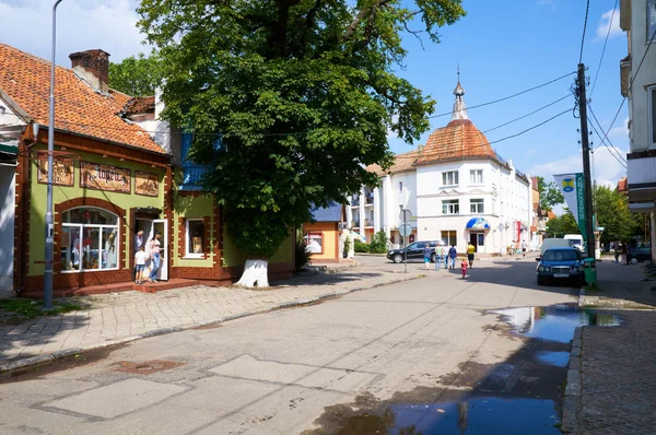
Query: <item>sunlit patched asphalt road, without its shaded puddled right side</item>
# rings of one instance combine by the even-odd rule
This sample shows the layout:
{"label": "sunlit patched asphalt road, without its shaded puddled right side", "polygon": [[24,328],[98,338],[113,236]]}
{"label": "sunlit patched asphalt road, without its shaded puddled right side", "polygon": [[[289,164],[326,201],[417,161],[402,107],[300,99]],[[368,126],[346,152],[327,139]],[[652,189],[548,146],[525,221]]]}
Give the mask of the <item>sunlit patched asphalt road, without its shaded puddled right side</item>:
{"label": "sunlit patched asphalt road, without its shaded puddled right side", "polygon": [[575,301],[573,289],[537,287],[535,266],[478,261],[466,280],[431,270],[61,362],[0,385],[0,433],[375,433],[349,419],[393,399],[457,396],[467,381],[448,379],[464,367],[523,348],[488,310]]}

